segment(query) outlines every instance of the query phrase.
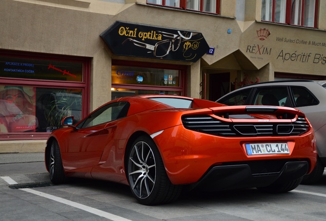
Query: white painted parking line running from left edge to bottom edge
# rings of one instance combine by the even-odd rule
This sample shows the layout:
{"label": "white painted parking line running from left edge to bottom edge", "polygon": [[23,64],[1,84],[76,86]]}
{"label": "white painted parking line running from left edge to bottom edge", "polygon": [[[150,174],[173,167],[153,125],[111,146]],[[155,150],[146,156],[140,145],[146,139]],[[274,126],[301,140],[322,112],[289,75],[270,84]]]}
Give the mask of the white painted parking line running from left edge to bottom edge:
{"label": "white painted parking line running from left edge to bottom edge", "polygon": [[[9,185],[17,184],[9,176],[1,176],[1,178],[4,181],[6,181]],[[101,217],[104,217],[104,218],[107,218],[107,219],[111,219],[113,221],[131,221],[130,219],[126,219],[126,218],[123,218],[121,216],[114,215],[112,213],[108,213],[108,212],[105,212],[105,211],[102,211],[102,210],[99,210],[99,209],[95,209],[93,207],[85,206],[83,204],[75,203],[73,201],[69,201],[69,200],[66,200],[64,198],[60,198],[60,197],[50,195],[50,194],[47,194],[47,193],[44,193],[44,192],[36,191],[36,190],[30,189],[30,188],[22,188],[20,190],[23,190],[23,191],[33,193],[33,194],[38,195],[38,196],[48,198],[50,200],[53,200],[53,201],[56,201],[56,202],[59,202],[59,203],[62,203],[62,204],[66,204],[68,206],[72,206],[72,207],[75,207],[77,209],[81,209],[81,210],[84,210],[86,212],[93,213],[95,215],[98,215],[98,216],[101,216]]]}

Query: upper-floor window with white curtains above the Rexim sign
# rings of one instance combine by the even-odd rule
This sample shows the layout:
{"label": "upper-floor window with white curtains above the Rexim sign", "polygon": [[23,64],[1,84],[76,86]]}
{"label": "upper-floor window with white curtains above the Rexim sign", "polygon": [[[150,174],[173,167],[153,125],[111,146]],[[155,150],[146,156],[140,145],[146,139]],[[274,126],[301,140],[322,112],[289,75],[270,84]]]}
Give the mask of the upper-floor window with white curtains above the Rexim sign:
{"label": "upper-floor window with white curtains above the Rexim sign", "polygon": [[318,0],[262,0],[261,20],[317,27]]}

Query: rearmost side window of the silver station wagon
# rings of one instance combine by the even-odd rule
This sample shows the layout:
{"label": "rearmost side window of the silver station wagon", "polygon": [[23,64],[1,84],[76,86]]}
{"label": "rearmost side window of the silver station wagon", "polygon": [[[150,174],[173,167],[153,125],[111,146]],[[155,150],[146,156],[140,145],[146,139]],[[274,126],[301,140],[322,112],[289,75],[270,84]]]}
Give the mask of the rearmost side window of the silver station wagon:
{"label": "rearmost side window of the silver station wagon", "polygon": [[305,87],[291,87],[291,91],[295,100],[295,105],[300,106],[313,106],[319,102]]}

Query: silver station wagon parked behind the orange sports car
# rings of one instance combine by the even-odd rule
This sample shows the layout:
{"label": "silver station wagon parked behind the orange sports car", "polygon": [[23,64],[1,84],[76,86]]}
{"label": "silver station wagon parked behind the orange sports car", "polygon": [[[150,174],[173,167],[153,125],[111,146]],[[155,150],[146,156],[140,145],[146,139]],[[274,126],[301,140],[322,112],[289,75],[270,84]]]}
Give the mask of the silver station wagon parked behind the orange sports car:
{"label": "silver station wagon parked behind the orange sports car", "polygon": [[301,184],[317,182],[326,166],[326,81],[284,80],[250,84],[216,100],[226,105],[272,105],[300,109],[314,128],[318,159]]}

